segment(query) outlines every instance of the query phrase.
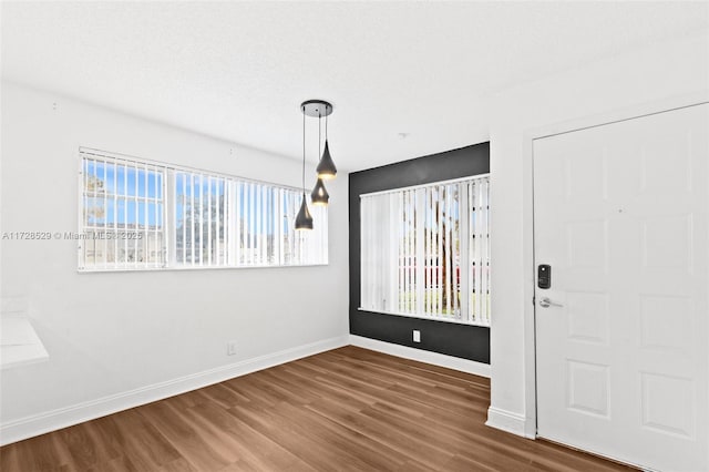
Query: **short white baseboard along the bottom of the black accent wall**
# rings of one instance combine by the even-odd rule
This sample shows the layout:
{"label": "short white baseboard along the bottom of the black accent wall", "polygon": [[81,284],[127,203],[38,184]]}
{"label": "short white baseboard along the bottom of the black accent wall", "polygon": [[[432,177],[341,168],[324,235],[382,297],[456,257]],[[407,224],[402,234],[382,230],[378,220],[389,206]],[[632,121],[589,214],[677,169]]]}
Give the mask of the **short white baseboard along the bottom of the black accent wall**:
{"label": "short white baseboard along the bottom of the black accent wall", "polygon": [[391,342],[378,341],[377,339],[364,338],[356,335],[350,335],[350,345],[384,352],[391,356],[403,357],[404,359],[418,360],[420,362],[432,363],[434,366],[446,367],[449,369],[490,378],[490,366],[482,362],[475,362],[473,360],[461,359],[459,357],[425,351],[422,349],[414,349],[408,346],[393,345]]}

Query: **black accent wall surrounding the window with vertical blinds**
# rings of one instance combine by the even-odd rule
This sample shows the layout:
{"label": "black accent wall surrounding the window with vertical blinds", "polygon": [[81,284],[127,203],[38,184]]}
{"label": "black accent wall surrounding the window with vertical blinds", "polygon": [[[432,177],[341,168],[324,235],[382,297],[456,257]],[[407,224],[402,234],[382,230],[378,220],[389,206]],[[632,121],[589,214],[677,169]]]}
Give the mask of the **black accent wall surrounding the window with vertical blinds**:
{"label": "black accent wall surrounding the window with vertical blinds", "polygon": [[[490,328],[359,310],[361,194],[430,184],[490,172],[490,143],[403,161],[349,175],[350,334],[490,363]],[[412,331],[421,331],[413,342]]]}

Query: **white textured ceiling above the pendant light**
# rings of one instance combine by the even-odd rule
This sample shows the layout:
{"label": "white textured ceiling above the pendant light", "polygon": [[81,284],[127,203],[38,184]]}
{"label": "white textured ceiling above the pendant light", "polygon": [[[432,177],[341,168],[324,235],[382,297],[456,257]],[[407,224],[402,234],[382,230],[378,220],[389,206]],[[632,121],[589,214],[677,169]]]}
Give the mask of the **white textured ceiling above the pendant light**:
{"label": "white textured ceiling above the pendant light", "polygon": [[681,1],[1,8],[9,80],[291,157],[298,105],[327,99],[349,171],[485,141],[490,94],[709,28]]}

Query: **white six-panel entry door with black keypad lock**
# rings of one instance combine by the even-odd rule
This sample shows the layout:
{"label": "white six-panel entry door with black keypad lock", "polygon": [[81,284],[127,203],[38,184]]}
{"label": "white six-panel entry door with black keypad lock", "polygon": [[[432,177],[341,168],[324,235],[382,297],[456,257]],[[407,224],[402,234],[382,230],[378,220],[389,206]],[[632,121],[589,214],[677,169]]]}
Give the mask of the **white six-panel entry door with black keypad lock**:
{"label": "white six-panel entry door with black keypad lock", "polygon": [[709,471],[708,134],[702,104],[534,142],[540,437]]}

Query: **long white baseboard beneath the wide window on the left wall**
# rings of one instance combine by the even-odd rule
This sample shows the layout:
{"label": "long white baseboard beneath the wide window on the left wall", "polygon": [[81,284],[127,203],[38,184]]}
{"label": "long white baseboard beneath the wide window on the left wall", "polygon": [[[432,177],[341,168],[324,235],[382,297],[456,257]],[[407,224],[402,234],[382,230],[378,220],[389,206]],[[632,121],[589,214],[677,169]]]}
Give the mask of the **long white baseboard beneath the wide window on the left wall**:
{"label": "long white baseboard beneath the wide window on the left wall", "polygon": [[253,359],[246,359],[227,366],[220,366],[177,379],[154,383],[140,389],[73,404],[71,407],[33,414],[14,421],[3,422],[0,425],[0,445],[10,444],[23,439],[44,434],[50,431],[55,431],[84,421],[105,417],[106,414],[162,400],[191,390],[207,387],[213,383],[223,382],[235,377],[245,376],[257,370],[290,362],[307,356],[340,348],[348,343],[349,336],[330,338]]}

